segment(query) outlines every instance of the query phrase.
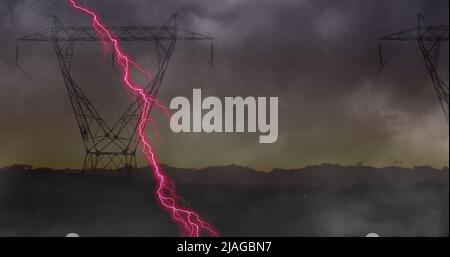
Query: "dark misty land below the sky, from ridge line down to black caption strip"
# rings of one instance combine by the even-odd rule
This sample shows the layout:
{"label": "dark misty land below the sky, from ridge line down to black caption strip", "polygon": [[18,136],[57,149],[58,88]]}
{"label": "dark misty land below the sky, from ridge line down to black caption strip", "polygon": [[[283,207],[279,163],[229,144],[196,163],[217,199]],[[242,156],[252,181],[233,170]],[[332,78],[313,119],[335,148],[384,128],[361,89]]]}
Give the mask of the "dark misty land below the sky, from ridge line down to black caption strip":
{"label": "dark misty land below the sky, from ridge line down to black caption strip", "polygon": [[[448,169],[166,171],[223,236],[449,236]],[[153,189],[149,178],[3,168],[0,236],[176,236]]]}

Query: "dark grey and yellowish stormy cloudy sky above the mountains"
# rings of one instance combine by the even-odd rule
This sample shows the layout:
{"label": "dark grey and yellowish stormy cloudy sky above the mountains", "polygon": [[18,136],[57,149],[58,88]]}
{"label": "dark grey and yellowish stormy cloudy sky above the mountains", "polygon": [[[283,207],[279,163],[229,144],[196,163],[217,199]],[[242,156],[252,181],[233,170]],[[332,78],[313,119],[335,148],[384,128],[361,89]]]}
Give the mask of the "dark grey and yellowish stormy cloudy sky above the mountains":
{"label": "dark grey and yellowish stormy cloudy sky above the mountains", "polygon": [[[164,126],[161,129],[166,134],[165,141],[157,142],[162,160],[176,165],[234,162],[261,169],[321,162],[355,163],[361,159],[374,165],[388,165],[397,160],[405,165],[446,165],[448,130],[416,46],[401,48],[379,78],[376,73],[376,39],[413,27],[415,13],[424,10],[429,2],[83,1],[98,10],[102,19],[111,25],[162,24],[177,12],[180,26],[215,37],[214,69],[218,83],[206,61],[209,46],[179,43],[161,91],[163,100],[189,96],[193,87],[202,87],[209,95],[279,96],[280,137],[276,144],[257,145],[256,136],[252,135],[173,135]],[[15,39],[50,26],[51,21],[44,17],[48,14],[58,15],[65,24],[88,24],[65,1],[0,0],[0,3],[3,46],[0,56],[10,60],[14,59]],[[448,2],[438,1],[428,17],[433,23],[448,24],[446,10]],[[386,45],[386,56],[396,47],[396,43]],[[29,146],[33,143],[30,138],[35,138],[36,133],[45,134],[47,125],[39,125],[39,132],[30,132],[32,129],[23,128],[24,123],[51,124],[52,130],[63,131],[57,132],[61,140],[79,146],[72,117],[64,117],[70,114],[70,106],[64,105],[66,95],[59,85],[60,74],[51,47],[27,45],[24,48],[27,61],[23,65],[44,81],[48,94],[27,84],[14,68],[0,62],[4,78],[0,88],[4,105],[0,119],[9,121],[9,126],[2,126],[9,134],[5,132],[2,137],[17,137],[14,128],[19,126],[24,135],[34,135],[23,139],[18,146],[17,140],[12,143],[5,139],[17,154],[8,153],[4,156],[9,157],[3,157],[1,162],[20,160],[24,156],[38,163],[39,159],[51,158],[50,147],[40,150],[36,157],[37,146]],[[78,49],[80,54],[86,52],[83,47]],[[146,51],[132,51],[140,61],[151,59]],[[443,51],[443,77],[448,81],[448,48]],[[79,74],[87,81],[98,80],[91,73]],[[86,90],[94,97],[101,97],[104,91],[96,88]],[[60,100],[61,108],[55,110],[56,103],[45,100],[49,94]],[[99,100],[106,106],[105,112],[120,109],[108,99]],[[30,107],[39,111],[39,115],[30,116],[24,109]],[[186,144],[180,146],[180,140]],[[204,140],[218,150],[211,153],[211,145],[202,144]],[[30,149],[23,150],[26,146]],[[61,147],[65,149],[62,159],[79,155],[79,148]],[[192,148],[198,151],[193,152]],[[211,163],[205,162],[205,155]],[[69,159],[74,159],[68,162],[70,165],[76,165],[75,157]]]}

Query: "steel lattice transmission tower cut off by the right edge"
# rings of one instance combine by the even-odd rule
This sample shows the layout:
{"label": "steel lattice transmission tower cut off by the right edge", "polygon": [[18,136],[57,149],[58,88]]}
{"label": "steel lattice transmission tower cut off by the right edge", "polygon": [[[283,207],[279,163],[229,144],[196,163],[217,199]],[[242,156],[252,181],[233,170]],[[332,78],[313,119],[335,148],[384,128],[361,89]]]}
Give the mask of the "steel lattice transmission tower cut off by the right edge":
{"label": "steel lattice transmission tower cut off by the right edge", "polygon": [[417,26],[415,28],[390,34],[379,38],[380,62],[383,66],[382,41],[417,42],[420,52],[425,60],[425,65],[433,82],[439,103],[444,111],[447,123],[449,121],[448,84],[439,76],[437,67],[439,63],[439,51],[441,42],[448,42],[449,26],[431,25],[422,14],[417,14]]}

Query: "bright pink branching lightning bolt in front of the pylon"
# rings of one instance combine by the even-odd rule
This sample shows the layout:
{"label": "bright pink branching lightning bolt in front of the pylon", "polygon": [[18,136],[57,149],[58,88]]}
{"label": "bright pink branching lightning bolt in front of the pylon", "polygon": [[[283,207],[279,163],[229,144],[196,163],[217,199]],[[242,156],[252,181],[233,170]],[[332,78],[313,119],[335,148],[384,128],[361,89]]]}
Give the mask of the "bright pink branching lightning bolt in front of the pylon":
{"label": "bright pink branching lightning bolt in front of the pylon", "polygon": [[[148,164],[152,167],[153,174],[158,183],[156,188],[156,196],[159,203],[166,211],[169,212],[171,218],[178,224],[180,227],[180,234],[182,236],[198,237],[203,232],[209,234],[210,236],[218,236],[219,234],[213,226],[203,220],[194,210],[190,210],[179,205],[178,202],[181,198],[175,191],[175,184],[161,170],[157,156],[150,144],[150,140],[145,135],[145,128],[149,121],[147,117],[149,117],[152,104],[163,108],[166,112],[167,108],[162,106],[156,101],[156,99],[150,96],[143,87],[136,84],[130,76],[130,71],[131,68],[134,67],[139,73],[146,76],[148,79],[152,78],[151,73],[140,67],[127,56],[127,54],[122,50],[119,41],[100,22],[97,14],[88,8],[79,5],[76,0],[69,0],[69,2],[73,8],[91,17],[92,27],[97,31],[99,37],[103,40],[104,46],[106,46],[106,42],[111,43],[112,51],[114,51],[114,55],[116,57],[116,62],[119,64],[122,71],[123,85],[142,101],[138,121],[138,138],[142,144],[142,152],[144,153]],[[153,120],[150,119],[150,121]]]}

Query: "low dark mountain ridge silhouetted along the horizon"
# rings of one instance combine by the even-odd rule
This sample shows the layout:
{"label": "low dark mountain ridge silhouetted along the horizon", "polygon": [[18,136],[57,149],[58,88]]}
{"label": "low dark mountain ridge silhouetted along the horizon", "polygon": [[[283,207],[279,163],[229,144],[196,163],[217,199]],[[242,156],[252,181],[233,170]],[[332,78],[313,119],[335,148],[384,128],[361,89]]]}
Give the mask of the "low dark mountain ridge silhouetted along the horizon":
{"label": "low dark mountain ridge silhouetted along the horizon", "polygon": [[[174,168],[162,165],[163,170],[177,183],[235,186],[410,186],[415,184],[449,184],[449,169],[436,169],[430,166],[401,168],[388,166],[342,166],[335,164],[312,165],[300,169],[273,169],[270,172],[256,171],[252,168],[227,165],[209,166],[201,169]],[[2,171],[21,170],[26,172],[63,172],[81,174],[78,169],[33,168],[29,165],[12,165],[0,168]],[[88,174],[88,173],[84,173]],[[99,170],[100,176],[127,177],[123,170]],[[153,179],[148,167],[138,168],[130,175],[139,179]]]}

